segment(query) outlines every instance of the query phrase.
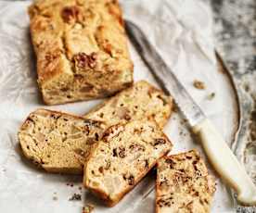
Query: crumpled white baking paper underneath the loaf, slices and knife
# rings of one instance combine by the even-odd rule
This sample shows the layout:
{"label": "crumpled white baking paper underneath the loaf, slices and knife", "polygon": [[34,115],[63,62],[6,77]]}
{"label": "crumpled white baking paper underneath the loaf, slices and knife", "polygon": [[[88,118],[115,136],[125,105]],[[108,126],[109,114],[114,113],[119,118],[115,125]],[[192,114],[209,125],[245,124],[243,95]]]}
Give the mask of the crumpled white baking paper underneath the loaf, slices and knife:
{"label": "crumpled white baking paper underneath the loaf, slices and knife", "polygon": [[[211,32],[209,6],[191,0],[121,1],[125,19],[134,21],[159,50],[205,114],[233,140],[237,111],[234,91],[226,75],[217,70]],[[0,1],[0,211],[19,213],[82,212],[86,204],[94,212],[154,212],[154,172],[140,182],[116,207],[105,207],[92,194],[81,190],[81,176],[48,174],[36,169],[21,154],[17,132],[22,121],[38,107],[83,115],[102,100],[46,107],[36,84],[35,58],[29,35],[27,6],[30,1]],[[140,56],[130,44],[134,60],[134,80],[147,80],[156,86]],[[205,90],[193,81],[204,81]],[[215,93],[210,100],[209,95]],[[172,153],[200,149],[191,138],[182,115],[174,112],[165,132],[172,140]],[[209,165],[211,169],[211,165]],[[215,175],[213,169],[211,173]],[[228,188],[218,176],[211,212],[234,212]],[[71,183],[67,185],[67,183]],[[69,201],[72,194],[82,201]]]}

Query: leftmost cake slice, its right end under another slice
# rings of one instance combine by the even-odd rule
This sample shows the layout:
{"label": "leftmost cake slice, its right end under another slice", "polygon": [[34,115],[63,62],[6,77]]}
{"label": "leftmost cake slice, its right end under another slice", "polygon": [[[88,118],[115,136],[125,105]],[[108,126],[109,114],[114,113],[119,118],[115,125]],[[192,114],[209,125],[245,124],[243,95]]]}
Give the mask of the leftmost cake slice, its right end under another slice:
{"label": "leftmost cake slice, its right end under another slice", "polygon": [[19,129],[25,157],[50,172],[83,173],[83,162],[101,137],[105,124],[38,109]]}

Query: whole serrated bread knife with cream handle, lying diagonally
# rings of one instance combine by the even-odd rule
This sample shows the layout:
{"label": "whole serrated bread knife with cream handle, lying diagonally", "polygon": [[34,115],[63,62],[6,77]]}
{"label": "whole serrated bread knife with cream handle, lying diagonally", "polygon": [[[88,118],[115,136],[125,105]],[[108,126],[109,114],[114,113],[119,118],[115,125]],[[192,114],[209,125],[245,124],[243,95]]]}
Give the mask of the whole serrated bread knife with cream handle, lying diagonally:
{"label": "whole serrated bread knife with cream handle, lying diagonally", "polygon": [[126,31],[134,47],[147,63],[148,68],[164,89],[172,94],[177,106],[184,113],[198,135],[207,157],[219,175],[237,192],[237,200],[244,205],[256,204],[256,187],[237,157],[224,142],[223,136],[217,132],[210,119],[204,115],[200,107],[186,92],[185,87],[176,78],[157,52],[147,41],[147,37],[133,22],[126,21]]}

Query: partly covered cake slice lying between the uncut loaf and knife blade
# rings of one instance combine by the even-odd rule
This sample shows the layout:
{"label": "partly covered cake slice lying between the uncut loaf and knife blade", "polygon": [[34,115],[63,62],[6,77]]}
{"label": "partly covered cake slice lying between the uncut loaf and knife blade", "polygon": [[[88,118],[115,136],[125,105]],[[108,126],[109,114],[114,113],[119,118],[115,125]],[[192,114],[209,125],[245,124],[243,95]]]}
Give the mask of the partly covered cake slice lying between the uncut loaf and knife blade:
{"label": "partly covered cake slice lying between the uncut loaf and knife blade", "polygon": [[84,116],[114,125],[132,119],[154,118],[160,128],[170,118],[173,99],[147,81],[137,81]]}

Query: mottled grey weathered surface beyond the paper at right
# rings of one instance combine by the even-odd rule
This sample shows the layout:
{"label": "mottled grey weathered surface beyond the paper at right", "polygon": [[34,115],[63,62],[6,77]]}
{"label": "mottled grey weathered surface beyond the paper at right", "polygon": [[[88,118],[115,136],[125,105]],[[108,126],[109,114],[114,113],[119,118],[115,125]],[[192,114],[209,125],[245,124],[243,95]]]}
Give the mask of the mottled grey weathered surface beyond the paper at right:
{"label": "mottled grey weathered surface beyond the paper at right", "polygon": [[[209,0],[216,48],[236,82],[241,104],[241,131],[233,146],[256,183],[256,1]],[[237,212],[256,212],[237,207]]]}

